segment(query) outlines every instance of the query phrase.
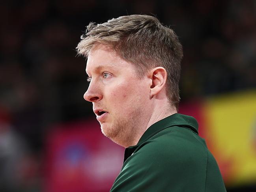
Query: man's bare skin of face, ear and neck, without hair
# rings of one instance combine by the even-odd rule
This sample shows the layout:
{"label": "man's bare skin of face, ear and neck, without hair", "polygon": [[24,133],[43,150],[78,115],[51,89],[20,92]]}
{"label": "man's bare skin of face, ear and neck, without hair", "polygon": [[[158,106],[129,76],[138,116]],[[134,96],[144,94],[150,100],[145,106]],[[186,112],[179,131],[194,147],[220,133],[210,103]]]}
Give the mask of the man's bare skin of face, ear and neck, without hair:
{"label": "man's bare skin of face, ear and neck, without hair", "polygon": [[99,44],[88,55],[86,73],[90,86],[84,99],[93,103],[94,111],[107,112],[97,117],[101,131],[123,147],[136,145],[150,125],[176,113],[166,96],[163,67],[138,78],[134,64]]}

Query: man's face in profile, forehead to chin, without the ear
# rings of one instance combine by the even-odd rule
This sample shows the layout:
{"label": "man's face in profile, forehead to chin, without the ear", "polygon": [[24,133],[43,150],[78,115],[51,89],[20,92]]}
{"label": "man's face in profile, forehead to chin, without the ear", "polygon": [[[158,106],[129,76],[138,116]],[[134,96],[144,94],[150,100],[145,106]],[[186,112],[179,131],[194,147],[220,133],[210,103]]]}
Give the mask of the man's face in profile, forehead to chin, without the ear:
{"label": "man's face in profile, forehead to chin, without the ear", "polygon": [[134,65],[104,45],[90,51],[86,73],[84,99],[93,103],[103,134],[124,147],[135,145],[150,116],[150,78],[138,78]]}

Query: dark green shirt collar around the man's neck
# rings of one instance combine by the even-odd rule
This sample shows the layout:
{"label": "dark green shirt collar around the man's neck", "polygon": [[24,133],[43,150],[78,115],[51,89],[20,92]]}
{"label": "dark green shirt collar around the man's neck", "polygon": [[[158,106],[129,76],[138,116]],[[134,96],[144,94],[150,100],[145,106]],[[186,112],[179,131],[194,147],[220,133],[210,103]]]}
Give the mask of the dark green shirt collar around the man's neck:
{"label": "dark green shirt collar around the man's neck", "polygon": [[138,141],[137,145],[142,144],[143,142],[151,138],[153,135],[155,135],[157,132],[172,126],[188,127],[196,134],[198,134],[198,123],[194,117],[176,113],[164,119],[161,119],[160,121],[157,121],[156,123],[151,125],[144,132],[144,134]]}

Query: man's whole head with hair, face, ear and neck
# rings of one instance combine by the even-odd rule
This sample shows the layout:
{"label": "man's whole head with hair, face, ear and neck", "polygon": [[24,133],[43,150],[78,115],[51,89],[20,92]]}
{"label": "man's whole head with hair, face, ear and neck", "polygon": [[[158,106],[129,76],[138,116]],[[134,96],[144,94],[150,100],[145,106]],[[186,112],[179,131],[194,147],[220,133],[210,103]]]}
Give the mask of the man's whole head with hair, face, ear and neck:
{"label": "man's whole head with hair, face, ear and neck", "polygon": [[84,99],[93,103],[105,136],[124,147],[136,144],[160,116],[156,107],[178,107],[178,37],[155,17],[130,15],[91,23],[81,39],[77,50],[88,57],[90,80]]}

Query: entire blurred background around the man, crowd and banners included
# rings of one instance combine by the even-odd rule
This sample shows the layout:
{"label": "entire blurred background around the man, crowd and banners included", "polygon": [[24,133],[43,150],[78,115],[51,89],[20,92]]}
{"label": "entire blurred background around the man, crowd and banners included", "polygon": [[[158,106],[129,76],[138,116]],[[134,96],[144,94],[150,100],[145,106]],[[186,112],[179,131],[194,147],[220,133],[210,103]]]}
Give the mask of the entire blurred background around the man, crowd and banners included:
{"label": "entire blurred background around the man, crowd and banners included", "polygon": [[228,192],[256,191],[255,0],[9,0],[0,6],[0,191],[105,192],[123,161],[84,101],[89,22],[156,15],[184,48],[196,117]]}

